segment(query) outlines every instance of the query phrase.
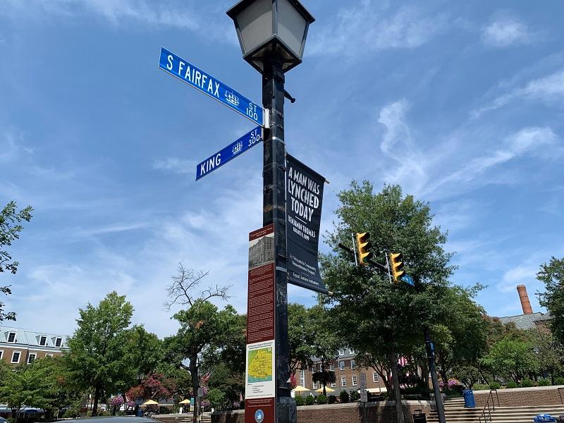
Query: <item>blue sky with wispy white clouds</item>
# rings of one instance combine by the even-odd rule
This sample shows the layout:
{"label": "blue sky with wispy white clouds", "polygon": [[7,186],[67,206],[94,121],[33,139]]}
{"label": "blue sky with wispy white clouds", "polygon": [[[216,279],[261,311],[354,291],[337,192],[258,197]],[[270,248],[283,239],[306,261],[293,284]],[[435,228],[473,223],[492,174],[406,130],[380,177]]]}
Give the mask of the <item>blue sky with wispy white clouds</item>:
{"label": "blue sky with wispy white clouds", "polygon": [[[165,47],[259,102],[234,3],[0,0],[0,204],[35,210],[9,250],[18,274],[1,275],[9,324],[70,335],[79,307],[117,290],[135,323],[171,335],[178,262],[246,311],[262,149],[195,182],[253,124],[158,66]],[[321,232],[351,180],[400,184],[448,231],[453,283],[486,285],[496,316],[521,313],[523,283],[544,311],[535,274],[564,256],[564,3],[303,3],[316,21],[286,74],[286,148],[331,182]]]}

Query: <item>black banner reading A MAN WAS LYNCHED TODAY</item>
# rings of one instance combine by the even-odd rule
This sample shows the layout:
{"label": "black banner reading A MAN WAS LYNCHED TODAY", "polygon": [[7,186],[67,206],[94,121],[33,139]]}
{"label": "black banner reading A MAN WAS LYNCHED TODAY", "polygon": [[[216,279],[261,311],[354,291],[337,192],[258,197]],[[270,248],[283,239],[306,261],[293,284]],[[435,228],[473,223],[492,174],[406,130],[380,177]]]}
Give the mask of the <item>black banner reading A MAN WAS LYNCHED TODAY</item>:
{"label": "black banner reading A MAN WAS LYNCHED TODAY", "polygon": [[319,293],[327,293],[317,263],[324,183],[319,173],[286,155],[288,282]]}

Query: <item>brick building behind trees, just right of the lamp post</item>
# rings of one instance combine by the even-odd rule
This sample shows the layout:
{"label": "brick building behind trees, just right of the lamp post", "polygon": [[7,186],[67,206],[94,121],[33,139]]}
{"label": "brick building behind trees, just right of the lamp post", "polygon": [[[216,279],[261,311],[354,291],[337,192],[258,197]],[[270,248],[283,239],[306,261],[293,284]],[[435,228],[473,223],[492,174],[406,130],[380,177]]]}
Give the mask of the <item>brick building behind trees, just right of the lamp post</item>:
{"label": "brick building behind trees, just right of the lamp post", "polygon": [[[360,389],[360,373],[366,373],[366,387],[370,393],[384,393],[386,386],[380,380],[379,374],[374,369],[363,369],[357,366],[355,362],[356,353],[350,348],[342,348],[338,351],[338,357],[333,362],[326,364],[327,370],[333,370],[336,376],[334,384],[327,385],[328,388],[334,389],[335,392],[327,393],[327,395],[338,395],[341,391],[358,391]],[[298,370],[295,373],[295,380],[298,385],[312,391],[322,388],[319,383],[314,383],[312,374],[321,372],[321,362],[315,358],[314,364],[308,369]]]}

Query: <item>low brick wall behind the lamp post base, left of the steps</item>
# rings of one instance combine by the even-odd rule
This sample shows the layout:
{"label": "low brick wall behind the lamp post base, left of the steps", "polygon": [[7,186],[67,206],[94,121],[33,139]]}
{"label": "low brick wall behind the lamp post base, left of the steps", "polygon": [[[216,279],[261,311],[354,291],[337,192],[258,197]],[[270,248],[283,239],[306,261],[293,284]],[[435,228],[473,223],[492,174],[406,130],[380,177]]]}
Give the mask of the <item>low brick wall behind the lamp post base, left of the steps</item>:
{"label": "low brick wall behind the lamp post base, left of the steps", "polygon": [[[415,410],[422,410],[429,415],[431,412],[429,401],[403,401],[406,423],[413,422],[412,414]],[[244,419],[243,410],[212,416],[213,423],[244,423]],[[298,407],[299,423],[394,423],[396,421],[396,405],[393,401],[367,403],[366,407],[362,407],[362,403],[301,405]]]}

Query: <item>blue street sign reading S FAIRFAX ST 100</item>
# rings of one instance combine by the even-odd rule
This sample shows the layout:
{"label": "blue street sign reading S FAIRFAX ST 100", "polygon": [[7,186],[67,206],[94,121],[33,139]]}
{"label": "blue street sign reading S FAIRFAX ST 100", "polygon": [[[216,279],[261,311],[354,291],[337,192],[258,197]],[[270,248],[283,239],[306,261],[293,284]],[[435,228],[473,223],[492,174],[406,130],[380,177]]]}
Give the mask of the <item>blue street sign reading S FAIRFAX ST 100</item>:
{"label": "blue street sign reading S FAIRFAX ST 100", "polygon": [[209,95],[212,99],[225,104],[229,108],[238,111],[245,118],[258,123],[261,126],[266,126],[264,116],[266,113],[262,106],[250,101],[243,97],[241,94],[223,84],[209,73],[205,73],[201,69],[192,65],[187,60],[180,59],[176,54],[171,53],[164,47],[161,47],[161,59],[159,60],[159,68],[166,73],[170,73],[176,78],[183,80],[187,84],[194,87],[196,90]]}

